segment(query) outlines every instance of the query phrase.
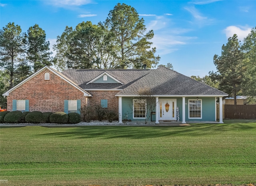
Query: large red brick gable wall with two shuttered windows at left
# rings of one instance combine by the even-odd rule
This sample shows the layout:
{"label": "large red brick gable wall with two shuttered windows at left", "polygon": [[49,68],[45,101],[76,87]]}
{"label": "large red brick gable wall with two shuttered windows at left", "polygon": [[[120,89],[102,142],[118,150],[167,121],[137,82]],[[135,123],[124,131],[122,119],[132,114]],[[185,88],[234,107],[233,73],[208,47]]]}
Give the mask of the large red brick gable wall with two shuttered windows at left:
{"label": "large red brick gable wall with two shuttered windows at left", "polygon": [[[44,73],[50,73],[50,80],[44,80]],[[86,104],[84,93],[50,70],[37,74],[7,96],[7,109],[12,111],[12,100],[29,100],[29,111],[64,112],[64,100],[81,100]]]}

